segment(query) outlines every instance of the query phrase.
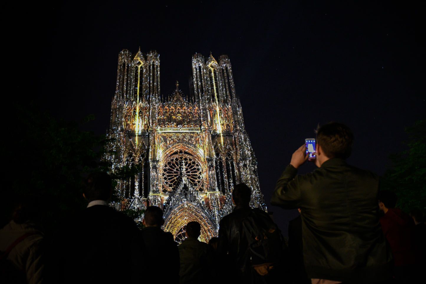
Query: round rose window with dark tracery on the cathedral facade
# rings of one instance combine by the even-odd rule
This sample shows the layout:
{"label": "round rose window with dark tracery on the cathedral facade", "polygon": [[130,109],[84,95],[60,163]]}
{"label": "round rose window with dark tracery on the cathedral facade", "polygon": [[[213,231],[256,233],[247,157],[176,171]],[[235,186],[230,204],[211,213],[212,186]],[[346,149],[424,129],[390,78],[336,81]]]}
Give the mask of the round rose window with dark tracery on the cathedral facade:
{"label": "round rose window with dark tracery on the cathedral facade", "polygon": [[167,191],[174,189],[181,180],[183,173],[194,189],[199,189],[202,184],[201,165],[191,155],[179,151],[175,155],[170,155],[164,162],[163,181]]}

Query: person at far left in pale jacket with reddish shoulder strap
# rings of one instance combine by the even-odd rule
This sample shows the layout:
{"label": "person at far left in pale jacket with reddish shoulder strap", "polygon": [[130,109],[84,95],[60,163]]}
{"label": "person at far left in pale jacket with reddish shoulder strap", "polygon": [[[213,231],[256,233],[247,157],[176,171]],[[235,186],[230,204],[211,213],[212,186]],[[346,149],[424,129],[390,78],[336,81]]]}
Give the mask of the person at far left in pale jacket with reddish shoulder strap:
{"label": "person at far left in pale jacket with reddish shoulder strap", "polygon": [[0,279],[2,283],[43,283],[43,233],[34,221],[35,204],[22,198],[12,220],[0,229]]}

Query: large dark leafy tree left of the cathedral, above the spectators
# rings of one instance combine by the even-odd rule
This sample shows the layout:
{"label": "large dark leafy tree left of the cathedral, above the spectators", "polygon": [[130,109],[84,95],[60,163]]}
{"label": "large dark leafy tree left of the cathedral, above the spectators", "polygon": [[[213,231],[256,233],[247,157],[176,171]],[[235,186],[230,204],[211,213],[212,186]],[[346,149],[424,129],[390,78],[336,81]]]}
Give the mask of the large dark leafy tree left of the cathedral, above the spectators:
{"label": "large dark leafy tree left of the cathedral, above the spectators", "polygon": [[[20,196],[37,198],[40,220],[49,230],[66,215],[85,207],[81,183],[88,172],[98,168],[105,137],[81,130],[93,115],[69,122],[40,111],[33,103],[17,109],[21,115],[6,146],[7,194],[11,201]],[[10,212],[11,207],[3,210]]]}

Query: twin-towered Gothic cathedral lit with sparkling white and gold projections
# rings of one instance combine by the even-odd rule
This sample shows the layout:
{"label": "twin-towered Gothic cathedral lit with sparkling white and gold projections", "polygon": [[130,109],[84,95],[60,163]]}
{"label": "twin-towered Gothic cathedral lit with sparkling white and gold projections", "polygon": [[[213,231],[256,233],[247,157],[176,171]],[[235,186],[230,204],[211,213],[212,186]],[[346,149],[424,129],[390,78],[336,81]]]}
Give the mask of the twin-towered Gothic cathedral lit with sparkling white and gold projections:
{"label": "twin-towered Gothic cathedral lit with sparkling white and gold projections", "polygon": [[229,58],[222,55],[218,63],[211,54],[207,60],[195,54],[192,68],[191,95],[176,82],[173,94],[163,96],[160,56],[120,52],[107,133],[112,139],[104,157],[112,172],[138,169],[118,181],[124,202],[117,209],[161,207],[163,229],[176,241],[190,221],[201,224],[201,240],[217,236],[240,182],[252,189],[250,206],[266,211]]}

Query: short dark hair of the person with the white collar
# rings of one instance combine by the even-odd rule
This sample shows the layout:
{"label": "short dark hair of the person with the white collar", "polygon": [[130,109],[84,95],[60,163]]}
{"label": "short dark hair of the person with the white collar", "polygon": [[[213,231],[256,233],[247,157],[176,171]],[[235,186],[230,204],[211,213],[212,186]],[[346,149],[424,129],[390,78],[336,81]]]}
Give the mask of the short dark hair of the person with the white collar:
{"label": "short dark hair of the person with the white collar", "polygon": [[92,172],[84,181],[83,192],[89,202],[107,201],[112,194],[112,179],[106,172]]}

